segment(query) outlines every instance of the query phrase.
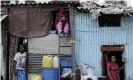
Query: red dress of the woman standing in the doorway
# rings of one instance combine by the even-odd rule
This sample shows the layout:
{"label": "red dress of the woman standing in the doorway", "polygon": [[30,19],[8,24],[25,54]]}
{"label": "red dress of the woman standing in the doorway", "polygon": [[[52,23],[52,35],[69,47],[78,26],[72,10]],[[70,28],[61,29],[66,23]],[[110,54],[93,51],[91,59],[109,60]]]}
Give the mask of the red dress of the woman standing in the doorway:
{"label": "red dress of the woman standing in the doorway", "polygon": [[[113,80],[120,80],[120,75],[119,75],[119,67],[117,64],[114,64],[112,62],[107,63],[107,70],[110,73],[110,76],[113,78]],[[108,75],[108,80],[110,79],[110,76]]]}

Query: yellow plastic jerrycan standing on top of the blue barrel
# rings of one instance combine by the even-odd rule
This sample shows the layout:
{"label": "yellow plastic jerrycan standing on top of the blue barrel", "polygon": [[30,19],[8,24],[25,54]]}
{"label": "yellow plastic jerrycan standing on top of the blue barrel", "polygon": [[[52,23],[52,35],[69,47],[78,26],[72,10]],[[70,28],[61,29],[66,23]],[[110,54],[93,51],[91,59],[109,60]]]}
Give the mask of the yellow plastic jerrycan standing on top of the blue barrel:
{"label": "yellow plastic jerrycan standing on top of the blue barrel", "polygon": [[42,68],[52,68],[53,66],[53,58],[51,55],[43,56],[42,59]]}

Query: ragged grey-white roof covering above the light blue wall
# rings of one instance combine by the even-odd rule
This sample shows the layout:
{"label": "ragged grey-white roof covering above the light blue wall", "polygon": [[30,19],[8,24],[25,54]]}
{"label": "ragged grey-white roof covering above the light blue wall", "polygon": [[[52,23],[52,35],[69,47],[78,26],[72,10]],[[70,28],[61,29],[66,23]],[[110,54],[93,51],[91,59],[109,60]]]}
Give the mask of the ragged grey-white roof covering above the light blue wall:
{"label": "ragged grey-white roof covering above the light blue wall", "polygon": [[81,11],[89,11],[93,14],[95,18],[100,16],[100,13],[103,14],[124,14],[124,15],[132,15],[133,8],[123,4],[99,4],[94,1],[80,3],[80,6],[77,7],[78,10]]}

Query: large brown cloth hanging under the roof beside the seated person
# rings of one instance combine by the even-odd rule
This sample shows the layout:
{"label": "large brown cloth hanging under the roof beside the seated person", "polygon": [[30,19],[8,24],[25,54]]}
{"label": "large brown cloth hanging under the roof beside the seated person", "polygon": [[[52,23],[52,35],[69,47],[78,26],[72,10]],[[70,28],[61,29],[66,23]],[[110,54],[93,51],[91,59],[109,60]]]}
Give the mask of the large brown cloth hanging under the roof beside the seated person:
{"label": "large brown cloth hanging under the roof beside the seated person", "polygon": [[11,7],[9,32],[25,38],[46,36],[52,21],[52,12],[48,8]]}

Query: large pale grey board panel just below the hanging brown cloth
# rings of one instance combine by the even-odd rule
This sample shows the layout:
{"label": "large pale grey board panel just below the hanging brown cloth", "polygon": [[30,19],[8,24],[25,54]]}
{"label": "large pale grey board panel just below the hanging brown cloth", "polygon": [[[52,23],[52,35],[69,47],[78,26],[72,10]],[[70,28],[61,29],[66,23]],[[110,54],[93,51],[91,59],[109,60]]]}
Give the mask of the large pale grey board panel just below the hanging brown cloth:
{"label": "large pale grey board panel just below the hanging brown cloth", "polygon": [[56,34],[49,34],[46,37],[28,39],[29,53],[58,54],[59,37]]}

